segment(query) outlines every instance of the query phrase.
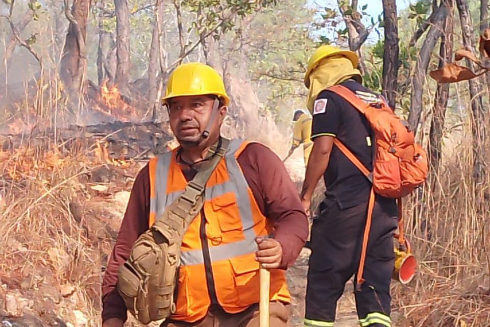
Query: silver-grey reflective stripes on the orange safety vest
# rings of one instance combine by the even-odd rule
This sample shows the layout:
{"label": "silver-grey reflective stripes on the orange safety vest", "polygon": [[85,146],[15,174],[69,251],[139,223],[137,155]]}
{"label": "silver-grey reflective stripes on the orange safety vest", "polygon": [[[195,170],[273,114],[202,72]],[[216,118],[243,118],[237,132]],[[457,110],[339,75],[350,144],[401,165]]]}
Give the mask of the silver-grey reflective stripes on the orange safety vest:
{"label": "silver-grey reflective stripes on the orange safety vest", "polygon": [[[205,199],[210,201],[212,198],[229,192],[235,194],[241,225],[243,227],[244,240],[210,247],[209,251],[213,262],[251,254],[257,250],[257,244],[255,242],[257,235],[253,230],[254,219],[248,192],[248,183],[235,157],[242,143],[242,140],[232,140],[230,142],[229,150],[225,156],[229,180],[222,184],[207,187],[205,190]],[[150,211],[155,215],[156,219],[183,192],[177,191],[167,194],[169,167],[173,155],[173,153],[165,153],[158,158],[155,171],[155,192],[154,197],[150,199]],[[204,264],[202,249],[183,251],[180,259],[181,264],[184,266]]]}

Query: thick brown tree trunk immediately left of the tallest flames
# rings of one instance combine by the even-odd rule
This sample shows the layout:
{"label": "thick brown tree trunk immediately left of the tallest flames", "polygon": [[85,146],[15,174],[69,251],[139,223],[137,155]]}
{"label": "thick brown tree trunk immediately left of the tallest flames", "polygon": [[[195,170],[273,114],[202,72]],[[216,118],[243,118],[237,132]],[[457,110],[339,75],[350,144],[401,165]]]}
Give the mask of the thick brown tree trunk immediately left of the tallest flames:
{"label": "thick brown tree trunk immediately left of the tallest flames", "polygon": [[65,16],[70,24],[63,48],[60,77],[68,88],[72,101],[80,96],[87,66],[85,42],[89,9],[90,0],[74,0],[71,10],[69,0],[65,0]]}

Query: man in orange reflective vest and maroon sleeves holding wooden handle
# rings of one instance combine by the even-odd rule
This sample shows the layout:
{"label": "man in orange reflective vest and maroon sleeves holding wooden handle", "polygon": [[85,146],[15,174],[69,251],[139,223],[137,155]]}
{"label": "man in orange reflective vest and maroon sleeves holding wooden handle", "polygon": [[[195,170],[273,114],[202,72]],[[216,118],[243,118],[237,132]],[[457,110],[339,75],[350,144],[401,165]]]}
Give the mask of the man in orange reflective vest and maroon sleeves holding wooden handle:
{"label": "man in orange reflective vest and maroon sleeves holding wooden handle", "polygon": [[[285,327],[290,295],[284,270],[308,234],[296,187],[270,149],[220,136],[229,97],[210,66],[177,67],[163,103],[180,146],[152,159],[135,180],[102,285],[103,326],[121,327],[127,318],[117,270],[135,240],[200,169],[218,162],[205,185],[204,206],[183,236],[175,308],[162,326],[258,327],[262,264],[271,270],[271,326]],[[210,148],[222,146],[226,152],[216,161]]]}

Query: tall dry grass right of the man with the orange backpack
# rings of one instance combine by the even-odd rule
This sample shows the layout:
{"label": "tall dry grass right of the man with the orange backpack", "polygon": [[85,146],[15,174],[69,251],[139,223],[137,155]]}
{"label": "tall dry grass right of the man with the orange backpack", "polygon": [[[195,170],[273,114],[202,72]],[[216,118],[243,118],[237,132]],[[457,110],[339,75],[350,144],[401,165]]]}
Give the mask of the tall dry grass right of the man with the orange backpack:
{"label": "tall dry grass right of the man with the orange backpack", "polygon": [[403,315],[400,326],[488,327],[490,193],[488,176],[475,185],[470,138],[405,207],[420,266],[408,287],[394,286],[394,304]]}

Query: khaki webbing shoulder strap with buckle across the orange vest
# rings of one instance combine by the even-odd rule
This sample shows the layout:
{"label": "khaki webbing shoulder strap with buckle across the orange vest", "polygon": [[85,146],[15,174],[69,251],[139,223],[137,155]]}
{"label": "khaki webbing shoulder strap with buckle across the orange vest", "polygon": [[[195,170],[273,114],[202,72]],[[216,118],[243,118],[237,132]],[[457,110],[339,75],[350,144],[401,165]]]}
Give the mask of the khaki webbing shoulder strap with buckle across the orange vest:
{"label": "khaki webbing shoulder strap with buckle across the orange vest", "polygon": [[[170,243],[182,239],[188,225],[204,205],[203,193],[206,189],[206,183],[219,161],[225,156],[229,144],[230,140],[225,138],[213,144],[208,152],[208,156],[212,158],[199,169],[195,177],[187,184],[184,193],[178,196],[164,211],[160,219],[152,225],[152,230],[158,231]],[[170,230],[177,233],[170,233]],[[155,240],[157,243],[165,241],[158,237],[155,237]]]}

